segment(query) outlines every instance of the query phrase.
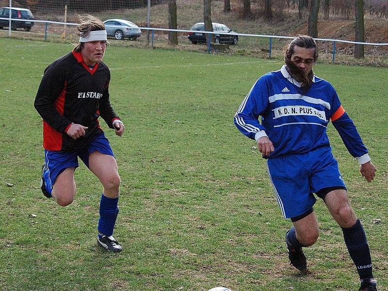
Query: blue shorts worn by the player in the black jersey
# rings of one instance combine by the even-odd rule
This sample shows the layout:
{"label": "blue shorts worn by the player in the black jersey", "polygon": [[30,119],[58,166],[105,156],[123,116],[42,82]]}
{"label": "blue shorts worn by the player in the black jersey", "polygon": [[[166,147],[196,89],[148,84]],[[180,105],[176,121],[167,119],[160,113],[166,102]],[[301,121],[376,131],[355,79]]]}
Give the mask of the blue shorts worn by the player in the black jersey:
{"label": "blue shorts worn by the player in the black jersey", "polygon": [[49,151],[45,149],[45,162],[49,168],[51,185],[54,185],[57,177],[65,171],[65,169],[72,167],[77,168],[79,166],[78,157],[80,157],[82,162],[89,168],[89,156],[96,150],[102,154],[114,157],[112,148],[104,133],[96,136],[89,145],[82,147],[80,150]]}

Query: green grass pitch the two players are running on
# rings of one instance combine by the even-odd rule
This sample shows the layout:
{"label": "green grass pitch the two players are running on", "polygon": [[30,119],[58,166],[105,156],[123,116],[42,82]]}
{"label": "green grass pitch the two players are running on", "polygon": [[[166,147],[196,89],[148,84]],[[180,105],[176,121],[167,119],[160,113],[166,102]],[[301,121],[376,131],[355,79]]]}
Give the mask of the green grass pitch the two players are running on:
{"label": "green grass pitch the two players are running on", "polygon": [[[0,289],[198,290],[358,289],[342,232],[322,201],[321,237],[306,249],[310,272],[289,264],[280,214],[255,142],[233,115],[256,79],[278,60],[166,49],[110,47],[111,103],[126,124],[103,122],[122,178],[114,236],[96,245],[101,186],[82,164],[66,208],[39,189],[42,121],[33,100],[43,71],[71,45],[0,38]],[[388,290],[387,69],[315,67],[337,88],[378,168],[367,183],[330,125],[334,155],[362,220],[379,290]],[[379,223],[375,223],[379,219]]]}

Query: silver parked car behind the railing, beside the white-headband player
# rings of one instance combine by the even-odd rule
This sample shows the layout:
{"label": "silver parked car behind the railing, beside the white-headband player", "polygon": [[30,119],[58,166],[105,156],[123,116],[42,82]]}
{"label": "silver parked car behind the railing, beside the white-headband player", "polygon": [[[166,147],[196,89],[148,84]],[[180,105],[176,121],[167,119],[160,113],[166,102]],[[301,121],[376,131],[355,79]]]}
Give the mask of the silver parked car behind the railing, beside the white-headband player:
{"label": "silver parked car behind the railing, beside the white-headband player", "polygon": [[108,36],[115,39],[128,37],[129,39],[136,40],[142,35],[142,31],[136,24],[125,19],[108,19],[104,21],[104,24]]}

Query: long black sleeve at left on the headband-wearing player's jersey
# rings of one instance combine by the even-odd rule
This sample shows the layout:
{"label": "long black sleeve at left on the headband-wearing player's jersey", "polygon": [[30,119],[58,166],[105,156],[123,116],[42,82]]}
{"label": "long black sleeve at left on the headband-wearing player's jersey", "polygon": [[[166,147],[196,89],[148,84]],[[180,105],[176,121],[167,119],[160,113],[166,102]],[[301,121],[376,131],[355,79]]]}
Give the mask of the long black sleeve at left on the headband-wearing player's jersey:
{"label": "long black sleeve at left on the headband-wearing player's jersey", "polygon": [[62,66],[55,63],[49,65],[40,82],[38,92],[36,93],[34,107],[49,126],[58,131],[64,131],[71,124],[59,110],[63,111],[63,103],[58,98],[65,98],[66,76]]}

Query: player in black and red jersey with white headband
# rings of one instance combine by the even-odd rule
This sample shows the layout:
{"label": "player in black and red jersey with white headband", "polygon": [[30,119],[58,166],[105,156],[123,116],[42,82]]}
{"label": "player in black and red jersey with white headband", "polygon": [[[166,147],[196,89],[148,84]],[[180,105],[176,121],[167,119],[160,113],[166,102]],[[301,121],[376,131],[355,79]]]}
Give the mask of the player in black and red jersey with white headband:
{"label": "player in black and red jersey with white headband", "polygon": [[41,190],[61,206],[74,200],[74,171],[78,157],[104,187],[100,201],[97,242],[105,249],[120,252],[113,238],[118,214],[120,176],[108,139],[99,126],[101,116],[118,136],[124,124],[109,101],[109,68],[102,63],[107,33],[100,19],[82,16],[78,26],[80,43],[71,52],[49,65],[35,98],[35,109],[43,118]]}

